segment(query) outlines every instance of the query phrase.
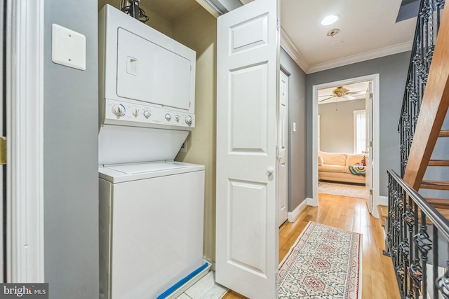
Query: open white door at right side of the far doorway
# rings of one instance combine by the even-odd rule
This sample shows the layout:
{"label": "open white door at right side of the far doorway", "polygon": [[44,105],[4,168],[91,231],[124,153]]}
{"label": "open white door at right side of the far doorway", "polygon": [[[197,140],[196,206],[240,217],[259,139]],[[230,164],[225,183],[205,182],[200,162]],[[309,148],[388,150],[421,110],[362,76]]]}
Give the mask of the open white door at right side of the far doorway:
{"label": "open white door at right side of the far doorway", "polygon": [[373,82],[368,83],[366,90],[366,192],[368,193],[368,209],[373,211]]}

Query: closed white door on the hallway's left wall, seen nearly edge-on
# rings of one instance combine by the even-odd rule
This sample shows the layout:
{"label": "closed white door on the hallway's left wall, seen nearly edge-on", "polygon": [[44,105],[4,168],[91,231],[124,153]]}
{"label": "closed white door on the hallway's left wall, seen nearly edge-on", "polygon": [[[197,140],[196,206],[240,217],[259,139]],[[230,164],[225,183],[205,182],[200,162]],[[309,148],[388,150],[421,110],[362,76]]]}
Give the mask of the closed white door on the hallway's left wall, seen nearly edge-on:
{"label": "closed white door on the hallway's left wall, seen nearly edge-on", "polygon": [[279,72],[278,202],[279,226],[288,218],[288,76]]}

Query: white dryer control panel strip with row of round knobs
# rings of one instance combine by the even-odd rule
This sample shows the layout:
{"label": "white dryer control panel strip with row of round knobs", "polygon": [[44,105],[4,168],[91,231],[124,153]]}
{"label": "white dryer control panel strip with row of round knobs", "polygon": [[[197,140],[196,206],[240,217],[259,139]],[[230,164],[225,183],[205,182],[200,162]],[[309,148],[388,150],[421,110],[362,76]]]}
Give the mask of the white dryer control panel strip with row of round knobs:
{"label": "white dryer control panel strip with row of round knobs", "polygon": [[138,101],[107,99],[104,124],[138,127],[170,125],[180,127],[181,130],[189,130],[195,126],[195,117],[194,114],[149,106]]}

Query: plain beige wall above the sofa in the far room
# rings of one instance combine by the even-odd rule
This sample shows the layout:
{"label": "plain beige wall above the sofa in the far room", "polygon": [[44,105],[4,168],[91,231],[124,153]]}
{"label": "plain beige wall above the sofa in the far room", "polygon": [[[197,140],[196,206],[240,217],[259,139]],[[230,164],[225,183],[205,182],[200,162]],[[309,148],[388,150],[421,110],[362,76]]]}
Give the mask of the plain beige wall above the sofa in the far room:
{"label": "plain beige wall above the sofa in the far room", "polygon": [[318,105],[320,151],[354,152],[354,110],[365,110],[365,99]]}

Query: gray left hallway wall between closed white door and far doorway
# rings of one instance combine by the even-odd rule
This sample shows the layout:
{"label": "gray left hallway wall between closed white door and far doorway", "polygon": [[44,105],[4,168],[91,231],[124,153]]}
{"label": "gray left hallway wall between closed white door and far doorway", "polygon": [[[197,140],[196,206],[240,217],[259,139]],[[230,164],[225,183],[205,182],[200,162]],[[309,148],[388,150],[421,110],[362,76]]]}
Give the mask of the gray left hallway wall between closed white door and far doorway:
{"label": "gray left hallway wall between closed white door and far doorway", "polygon": [[[288,76],[288,211],[306,198],[306,74],[281,48],[281,68]],[[293,123],[296,131],[293,132]]]}

